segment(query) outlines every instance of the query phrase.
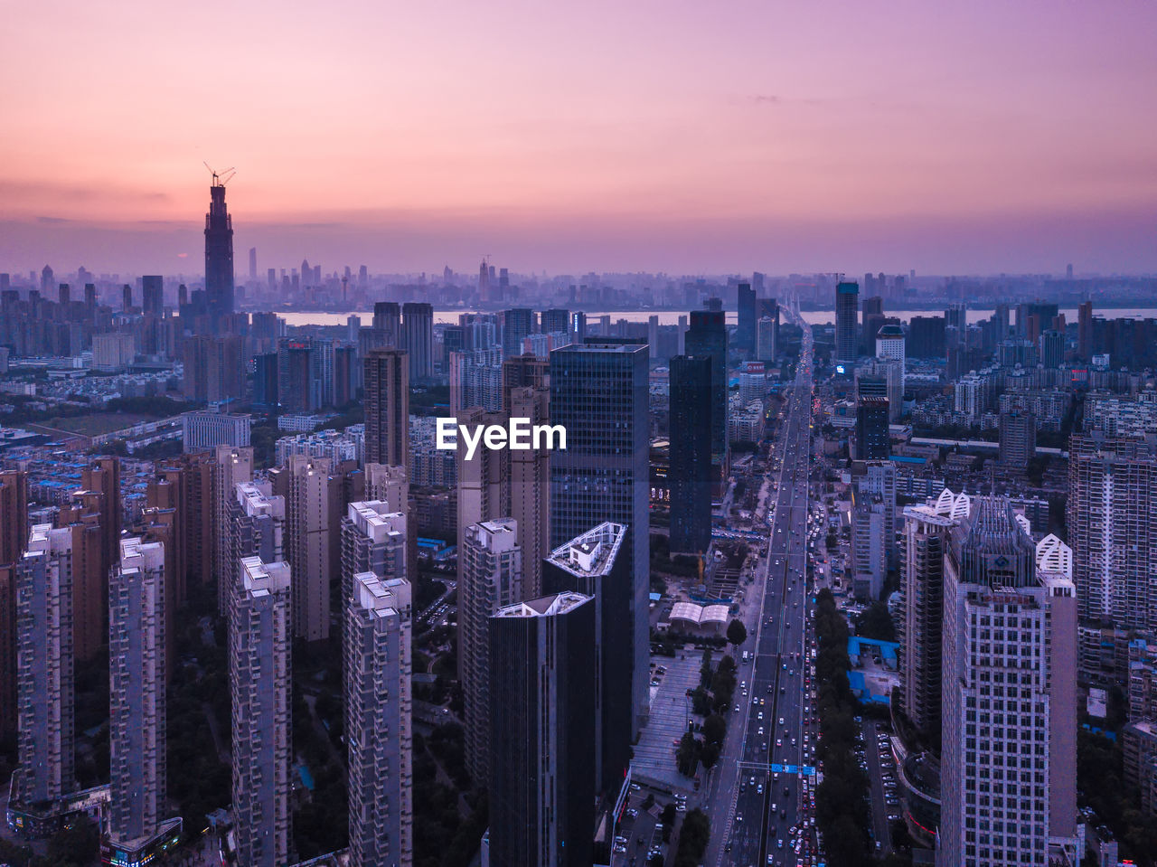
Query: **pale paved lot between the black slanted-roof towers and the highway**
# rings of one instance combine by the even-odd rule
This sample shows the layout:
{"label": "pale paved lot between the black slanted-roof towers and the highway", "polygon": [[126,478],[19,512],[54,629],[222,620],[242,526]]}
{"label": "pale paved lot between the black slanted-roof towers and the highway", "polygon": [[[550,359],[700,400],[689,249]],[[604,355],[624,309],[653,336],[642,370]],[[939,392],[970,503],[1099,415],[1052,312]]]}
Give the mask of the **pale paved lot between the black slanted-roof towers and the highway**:
{"label": "pale paved lot between the black slanted-roof towers and the highway", "polygon": [[[680,649],[673,657],[653,656],[653,681],[658,685],[650,689],[650,721],[643,727],[639,743],[635,744],[635,757],[632,762],[636,778],[654,780],[673,789],[690,791],[692,782],[675,767],[675,750],[687,730],[687,720],[695,719],[691,714],[691,697],[687,690],[699,685],[699,667],[702,664],[702,653],[695,649]],[[661,675],[658,668],[665,668]]]}

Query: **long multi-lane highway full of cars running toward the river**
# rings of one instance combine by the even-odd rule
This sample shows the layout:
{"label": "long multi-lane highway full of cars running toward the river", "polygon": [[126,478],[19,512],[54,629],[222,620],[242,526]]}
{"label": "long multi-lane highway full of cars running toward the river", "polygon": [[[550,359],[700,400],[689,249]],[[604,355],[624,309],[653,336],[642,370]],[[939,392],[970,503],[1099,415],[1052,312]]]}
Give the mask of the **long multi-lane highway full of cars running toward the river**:
{"label": "long multi-lane highway full of cars running toward the river", "polygon": [[[805,581],[811,407],[811,335],[804,344],[774,455],[776,485],[768,509],[771,538],[749,603],[754,632],[740,651],[737,735],[716,773],[708,803],[713,843],[707,864],[815,864],[815,830],[805,798],[815,726],[809,674],[809,596]],[[798,842],[798,845],[797,845]],[[798,848],[798,852],[796,851]]]}

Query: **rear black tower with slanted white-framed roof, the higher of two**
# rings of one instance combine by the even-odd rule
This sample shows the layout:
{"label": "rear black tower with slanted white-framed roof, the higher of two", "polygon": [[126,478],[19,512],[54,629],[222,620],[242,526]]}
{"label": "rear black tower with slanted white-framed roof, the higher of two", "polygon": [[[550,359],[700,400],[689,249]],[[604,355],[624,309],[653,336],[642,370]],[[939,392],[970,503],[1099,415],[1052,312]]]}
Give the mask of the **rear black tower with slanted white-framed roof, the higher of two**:
{"label": "rear black tower with slanted white-framed roof, the higher of two", "polygon": [[620,662],[632,653],[631,633],[621,627],[632,592],[625,544],[627,528],[607,521],[557,548],[543,564],[546,594],[572,590],[594,600],[595,787],[599,793],[621,786],[631,763],[631,671]]}

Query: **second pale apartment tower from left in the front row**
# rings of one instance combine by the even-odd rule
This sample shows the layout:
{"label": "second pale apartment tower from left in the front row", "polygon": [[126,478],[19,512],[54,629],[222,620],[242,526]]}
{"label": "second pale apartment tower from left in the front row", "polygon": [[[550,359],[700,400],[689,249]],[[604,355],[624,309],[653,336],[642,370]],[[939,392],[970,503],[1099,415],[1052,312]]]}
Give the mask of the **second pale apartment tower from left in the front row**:
{"label": "second pale apartment tower from left in the front row", "polygon": [[109,586],[109,836],[139,850],[165,809],[164,548],[120,539]]}

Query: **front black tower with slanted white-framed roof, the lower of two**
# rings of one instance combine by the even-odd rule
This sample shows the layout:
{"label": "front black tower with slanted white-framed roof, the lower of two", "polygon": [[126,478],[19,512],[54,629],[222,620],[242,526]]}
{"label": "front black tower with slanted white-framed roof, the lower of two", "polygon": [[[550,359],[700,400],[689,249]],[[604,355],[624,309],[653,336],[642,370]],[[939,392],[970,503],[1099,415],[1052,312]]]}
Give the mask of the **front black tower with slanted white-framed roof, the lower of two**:
{"label": "front black tower with slanted white-framed roof, the lower of two", "polygon": [[491,618],[489,633],[491,865],[590,867],[592,600],[563,593],[519,602]]}

